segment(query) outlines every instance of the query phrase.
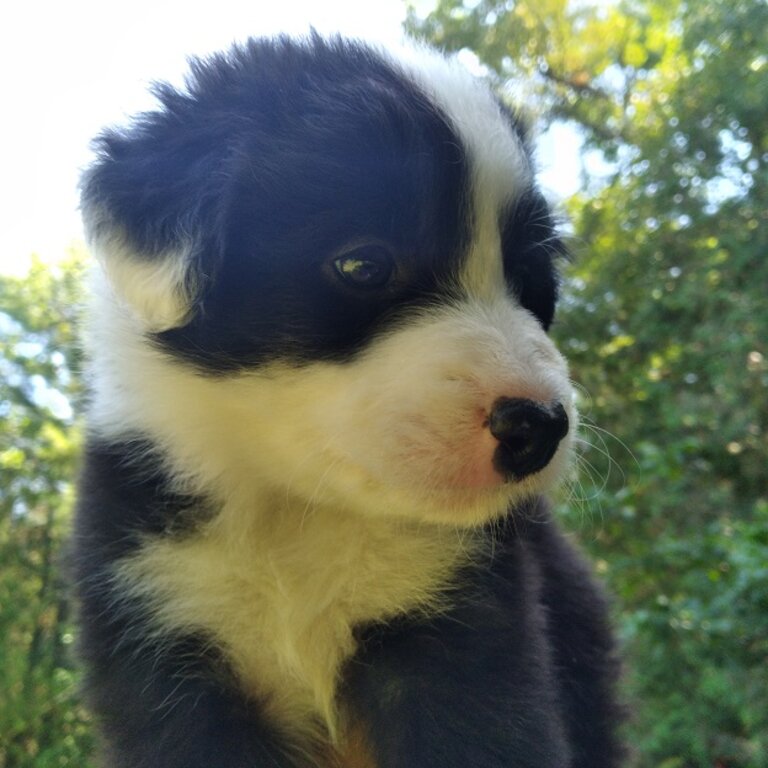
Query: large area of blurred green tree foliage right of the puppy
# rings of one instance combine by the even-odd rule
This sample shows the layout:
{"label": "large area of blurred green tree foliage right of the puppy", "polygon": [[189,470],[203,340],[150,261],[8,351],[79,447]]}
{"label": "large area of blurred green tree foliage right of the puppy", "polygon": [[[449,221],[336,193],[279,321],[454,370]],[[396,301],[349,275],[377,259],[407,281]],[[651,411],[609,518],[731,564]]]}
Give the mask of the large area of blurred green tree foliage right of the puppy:
{"label": "large area of blurred green tree foliage right of the puppy", "polygon": [[440,0],[409,23],[601,169],[568,201],[555,335],[586,424],[562,512],[617,595],[634,764],[764,768],[768,4]]}

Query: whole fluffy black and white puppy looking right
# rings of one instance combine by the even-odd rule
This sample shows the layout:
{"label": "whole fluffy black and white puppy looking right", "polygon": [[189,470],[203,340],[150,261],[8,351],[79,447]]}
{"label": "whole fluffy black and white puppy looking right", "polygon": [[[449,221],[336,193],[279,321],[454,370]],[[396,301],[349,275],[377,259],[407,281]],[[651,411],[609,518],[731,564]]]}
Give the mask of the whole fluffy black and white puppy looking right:
{"label": "whole fluffy black and white puppy looking right", "polygon": [[251,40],[103,134],[76,522],[114,768],[604,768],[605,604],[525,128],[455,62]]}

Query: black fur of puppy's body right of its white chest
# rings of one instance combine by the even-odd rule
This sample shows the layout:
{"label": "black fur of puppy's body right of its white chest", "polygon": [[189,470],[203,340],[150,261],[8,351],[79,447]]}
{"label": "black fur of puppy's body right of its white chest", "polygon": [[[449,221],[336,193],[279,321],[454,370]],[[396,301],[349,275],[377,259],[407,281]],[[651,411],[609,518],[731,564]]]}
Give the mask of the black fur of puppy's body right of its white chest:
{"label": "black fur of puppy's body right of its white chest", "polygon": [[346,695],[381,768],[610,768],[622,754],[606,605],[546,506],[495,526],[454,608],[361,633]]}

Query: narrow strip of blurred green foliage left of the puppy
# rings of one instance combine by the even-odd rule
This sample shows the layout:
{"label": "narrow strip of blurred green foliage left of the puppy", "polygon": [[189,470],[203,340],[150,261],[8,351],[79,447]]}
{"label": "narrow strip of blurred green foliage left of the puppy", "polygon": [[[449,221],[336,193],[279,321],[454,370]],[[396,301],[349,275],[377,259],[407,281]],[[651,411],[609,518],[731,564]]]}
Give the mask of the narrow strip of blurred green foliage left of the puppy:
{"label": "narrow strip of blurred green foliage left of the puppy", "polygon": [[87,766],[62,542],[72,507],[83,258],[0,276],[0,766]]}

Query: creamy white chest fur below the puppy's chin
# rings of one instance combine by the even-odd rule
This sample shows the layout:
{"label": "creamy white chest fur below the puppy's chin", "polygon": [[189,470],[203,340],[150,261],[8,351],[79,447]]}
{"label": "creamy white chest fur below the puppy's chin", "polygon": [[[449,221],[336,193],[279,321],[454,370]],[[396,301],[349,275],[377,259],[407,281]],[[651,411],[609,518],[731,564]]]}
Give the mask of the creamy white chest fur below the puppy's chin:
{"label": "creamy white chest fur below the puppy's chin", "polygon": [[148,601],[159,634],[208,634],[276,723],[335,742],[353,627],[439,611],[475,547],[466,530],[232,499],[194,535],[149,541],[118,578]]}

